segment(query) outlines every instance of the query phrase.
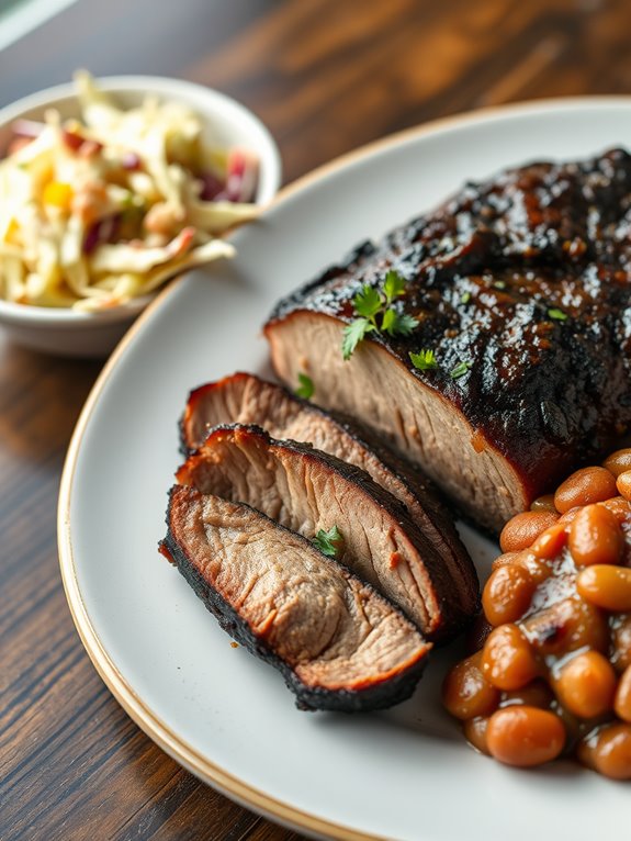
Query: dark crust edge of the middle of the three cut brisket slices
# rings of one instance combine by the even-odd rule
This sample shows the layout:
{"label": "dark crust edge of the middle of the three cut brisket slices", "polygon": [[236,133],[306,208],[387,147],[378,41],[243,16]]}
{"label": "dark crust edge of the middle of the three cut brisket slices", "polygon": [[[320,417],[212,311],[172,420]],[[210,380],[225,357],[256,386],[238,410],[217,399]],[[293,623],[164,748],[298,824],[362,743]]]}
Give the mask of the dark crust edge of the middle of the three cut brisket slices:
{"label": "dark crust edge of the middle of the three cut brisket slices", "polygon": [[453,598],[451,576],[448,574],[444,563],[433,546],[428,541],[418,526],[412,520],[407,508],[388,491],[374,482],[371,476],[361,468],[349,464],[341,459],[330,456],[327,452],[317,450],[309,444],[293,440],[275,440],[256,425],[225,424],[215,427],[204,445],[195,450],[182,467],[176,473],[178,482],[181,484],[194,484],[192,473],[196,463],[204,461],[204,447],[213,446],[213,439],[225,434],[257,436],[267,447],[275,447],[288,452],[295,453],[301,459],[313,460],[327,468],[334,473],[340,475],[345,481],[352,482],[361,492],[371,497],[375,505],[381,507],[386,514],[396,522],[407,538],[417,548],[422,563],[429,574],[433,587],[433,595],[439,605],[438,616],[432,618],[433,627],[422,629],[428,639],[432,641],[447,641],[457,636],[473,618],[471,612],[463,612],[462,606],[455,603]]}

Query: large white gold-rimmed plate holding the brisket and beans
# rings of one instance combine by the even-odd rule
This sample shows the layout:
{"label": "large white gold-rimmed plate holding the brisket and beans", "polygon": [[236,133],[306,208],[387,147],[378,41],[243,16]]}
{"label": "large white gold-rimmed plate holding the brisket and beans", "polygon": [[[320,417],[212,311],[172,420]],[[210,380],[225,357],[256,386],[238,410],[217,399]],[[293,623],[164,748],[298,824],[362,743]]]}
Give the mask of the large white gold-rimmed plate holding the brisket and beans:
{"label": "large white gold-rimmed plate holding the brisket and beans", "polygon": [[[64,582],[114,695],[202,780],[338,838],[532,841],[567,838],[571,827],[573,841],[593,841],[628,825],[628,785],[571,763],[511,770],[465,744],[438,697],[453,649],[432,658],[414,698],[394,710],[300,713],[275,671],[230,647],[156,545],[187,393],[237,369],[266,371],[259,328],[280,295],[466,179],[629,137],[630,100],[583,99],[448,120],[351,155],[237,232],[237,259],[164,295],[108,365],[64,473]],[[494,547],[465,537],[484,574]]]}

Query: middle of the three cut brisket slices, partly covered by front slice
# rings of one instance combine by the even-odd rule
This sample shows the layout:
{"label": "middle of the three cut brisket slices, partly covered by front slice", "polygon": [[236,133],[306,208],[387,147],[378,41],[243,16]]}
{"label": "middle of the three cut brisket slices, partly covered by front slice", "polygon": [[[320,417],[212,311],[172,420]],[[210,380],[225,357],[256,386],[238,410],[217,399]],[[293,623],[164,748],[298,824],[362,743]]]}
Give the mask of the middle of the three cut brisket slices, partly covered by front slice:
{"label": "middle of the three cut brisket slices, partly covered by front slice", "polygon": [[[471,618],[442,559],[405,507],[369,474],[256,426],[216,427],[177,473],[202,493],[241,502],[313,539],[337,526],[340,562],[391,598],[431,639]],[[469,608],[469,605],[467,605]]]}

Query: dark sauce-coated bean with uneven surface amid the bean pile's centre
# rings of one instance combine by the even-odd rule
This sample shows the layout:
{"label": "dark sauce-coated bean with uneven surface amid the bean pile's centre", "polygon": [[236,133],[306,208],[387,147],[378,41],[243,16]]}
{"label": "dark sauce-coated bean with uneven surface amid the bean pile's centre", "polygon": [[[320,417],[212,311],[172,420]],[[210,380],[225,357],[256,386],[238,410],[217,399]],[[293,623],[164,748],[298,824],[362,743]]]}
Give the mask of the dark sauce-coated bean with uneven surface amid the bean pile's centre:
{"label": "dark sauce-coated bean with uneven surface amid the bean pile's centre", "polygon": [[578,597],[564,598],[529,616],[522,630],[541,657],[559,658],[579,648],[607,653],[609,626],[605,615]]}

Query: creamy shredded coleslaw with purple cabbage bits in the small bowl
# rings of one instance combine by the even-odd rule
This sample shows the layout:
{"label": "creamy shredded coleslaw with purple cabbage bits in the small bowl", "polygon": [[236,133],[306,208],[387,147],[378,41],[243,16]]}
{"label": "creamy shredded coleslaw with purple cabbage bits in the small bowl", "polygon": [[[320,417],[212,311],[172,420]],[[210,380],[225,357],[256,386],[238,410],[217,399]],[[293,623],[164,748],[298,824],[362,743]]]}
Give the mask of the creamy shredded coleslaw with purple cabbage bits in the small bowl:
{"label": "creamy shredded coleslaw with purple cabbage bits in the small bowl", "polygon": [[218,236],[257,215],[257,159],[205,149],[179,102],[123,111],[75,79],[81,119],[18,121],[0,160],[0,296],[100,311],[232,257]]}

